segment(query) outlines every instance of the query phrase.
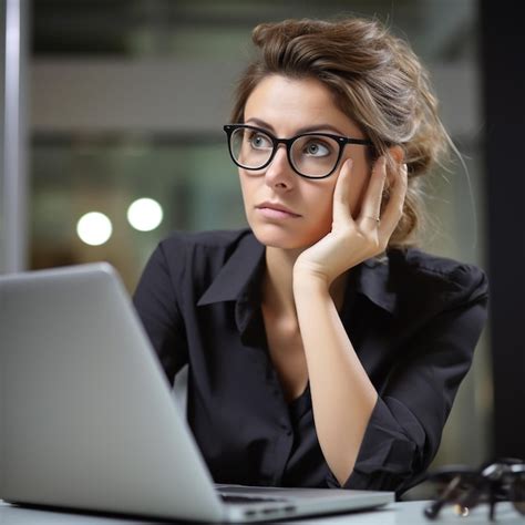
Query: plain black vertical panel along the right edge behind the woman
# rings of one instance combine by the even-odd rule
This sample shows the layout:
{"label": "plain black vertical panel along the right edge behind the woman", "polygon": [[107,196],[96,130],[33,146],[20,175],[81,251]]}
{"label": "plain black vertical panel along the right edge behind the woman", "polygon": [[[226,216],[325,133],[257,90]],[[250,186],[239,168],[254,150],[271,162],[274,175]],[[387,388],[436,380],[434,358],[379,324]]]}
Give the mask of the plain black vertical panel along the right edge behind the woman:
{"label": "plain black vertical panel along the right edge behind the woman", "polygon": [[481,1],[494,446],[525,459],[525,43],[512,1]]}

